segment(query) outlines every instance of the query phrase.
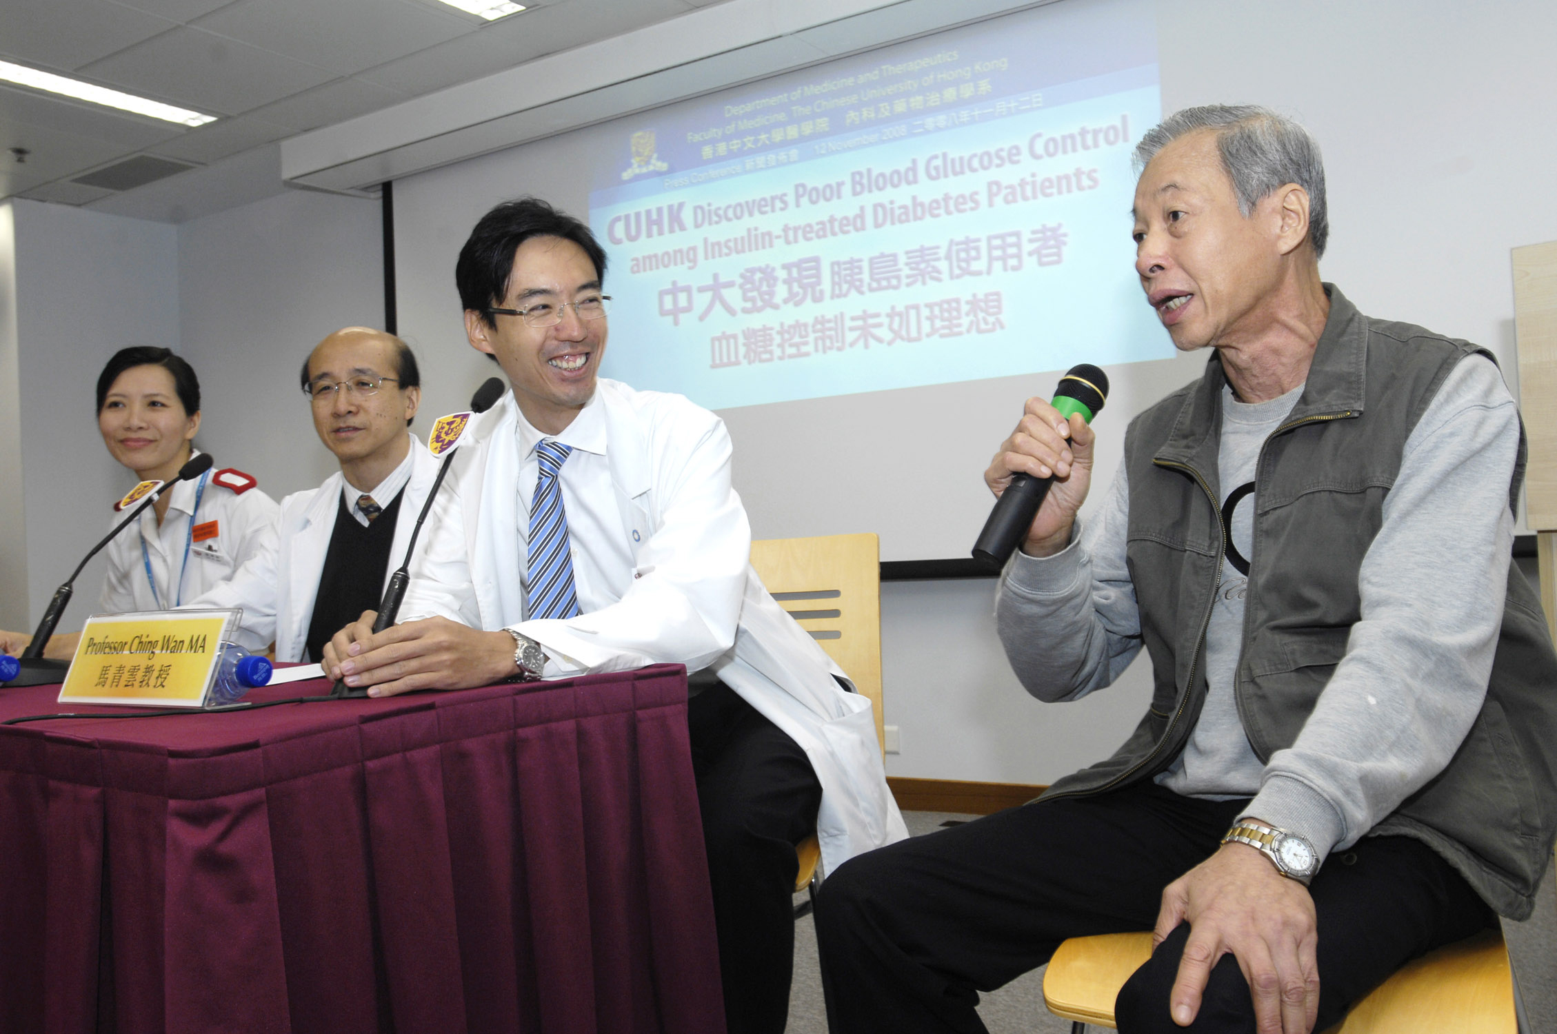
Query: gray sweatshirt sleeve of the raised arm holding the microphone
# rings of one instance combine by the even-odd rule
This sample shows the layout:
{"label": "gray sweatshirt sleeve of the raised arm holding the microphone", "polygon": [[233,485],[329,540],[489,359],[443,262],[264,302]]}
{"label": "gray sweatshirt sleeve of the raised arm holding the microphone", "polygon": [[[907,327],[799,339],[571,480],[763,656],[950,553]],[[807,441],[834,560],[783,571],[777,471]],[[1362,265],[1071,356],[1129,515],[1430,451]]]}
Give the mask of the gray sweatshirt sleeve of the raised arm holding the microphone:
{"label": "gray sweatshirt sleeve of the raised arm holding the microphone", "polygon": [[1077,520],[1049,557],[1020,550],[995,590],[995,626],[1012,670],[1040,701],[1073,701],[1113,682],[1141,648],[1135,587],[1124,564],[1124,466],[1098,514]]}

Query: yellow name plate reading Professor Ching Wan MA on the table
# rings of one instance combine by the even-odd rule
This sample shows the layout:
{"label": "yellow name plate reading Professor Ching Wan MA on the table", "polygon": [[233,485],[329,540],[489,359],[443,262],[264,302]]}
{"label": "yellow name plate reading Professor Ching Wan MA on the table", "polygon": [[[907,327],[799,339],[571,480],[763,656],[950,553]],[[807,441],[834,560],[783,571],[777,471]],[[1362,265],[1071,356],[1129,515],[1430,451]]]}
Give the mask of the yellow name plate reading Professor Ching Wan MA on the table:
{"label": "yellow name plate reading Professor Ching Wan MA on the table", "polygon": [[61,704],[206,707],[241,609],[95,614],[81,629]]}

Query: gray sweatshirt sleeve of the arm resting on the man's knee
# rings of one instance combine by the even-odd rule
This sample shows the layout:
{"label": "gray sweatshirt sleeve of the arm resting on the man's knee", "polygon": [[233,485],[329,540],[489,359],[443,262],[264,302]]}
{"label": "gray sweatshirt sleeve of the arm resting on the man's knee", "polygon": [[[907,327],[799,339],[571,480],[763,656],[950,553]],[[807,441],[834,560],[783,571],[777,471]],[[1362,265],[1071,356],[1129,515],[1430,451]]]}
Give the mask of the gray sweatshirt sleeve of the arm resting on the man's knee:
{"label": "gray sweatshirt sleeve of the arm resting on the man's knee", "polygon": [[1350,847],[1448,765],[1487,695],[1513,542],[1518,413],[1462,360],[1406,441],[1359,572],[1361,620],[1249,816]]}

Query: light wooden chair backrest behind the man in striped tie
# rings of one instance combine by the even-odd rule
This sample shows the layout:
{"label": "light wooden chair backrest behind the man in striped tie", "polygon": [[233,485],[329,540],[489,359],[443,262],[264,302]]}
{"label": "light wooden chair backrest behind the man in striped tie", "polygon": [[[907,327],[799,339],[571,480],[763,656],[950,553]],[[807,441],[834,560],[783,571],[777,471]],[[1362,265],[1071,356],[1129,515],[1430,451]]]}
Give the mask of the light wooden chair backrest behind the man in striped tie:
{"label": "light wooden chair backrest behind the man in striped tie", "polygon": [[752,567],[774,600],[853,679],[881,719],[881,540],[873,534],[752,542]]}

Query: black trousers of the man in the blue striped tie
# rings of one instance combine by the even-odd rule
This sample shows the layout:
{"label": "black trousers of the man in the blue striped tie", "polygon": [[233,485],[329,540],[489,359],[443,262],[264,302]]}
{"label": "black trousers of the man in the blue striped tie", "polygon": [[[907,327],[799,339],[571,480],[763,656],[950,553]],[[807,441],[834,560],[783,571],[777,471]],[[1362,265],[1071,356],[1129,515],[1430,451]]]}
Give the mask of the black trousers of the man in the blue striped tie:
{"label": "black trousers of the man in the blue striped tie", "polygon": [[794,846],[816,828],[822,785],[805,751],[715,682],[687,704],[691,763],[719,933],[730,1034],[777,1034],[794,969]]}

